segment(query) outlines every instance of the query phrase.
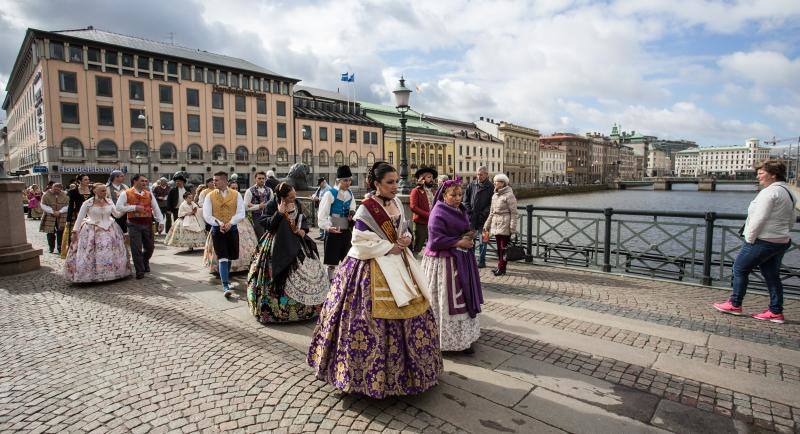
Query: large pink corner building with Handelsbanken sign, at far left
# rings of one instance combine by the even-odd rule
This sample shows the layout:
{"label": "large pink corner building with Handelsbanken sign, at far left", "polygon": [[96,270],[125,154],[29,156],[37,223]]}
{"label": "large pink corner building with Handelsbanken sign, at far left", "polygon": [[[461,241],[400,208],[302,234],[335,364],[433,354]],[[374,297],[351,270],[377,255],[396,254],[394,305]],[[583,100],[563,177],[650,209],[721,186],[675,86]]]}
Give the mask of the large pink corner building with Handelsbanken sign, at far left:
{"label": "large pink corner building with Handelsbanken sign, at far left", "polygon": [[[7,86],[12,170],[30,184],[120,169],[285,173],[300,160],[293,86],[245,60],[88,27],[28,29]],[[35,173],[33,173],[35,172]]]}

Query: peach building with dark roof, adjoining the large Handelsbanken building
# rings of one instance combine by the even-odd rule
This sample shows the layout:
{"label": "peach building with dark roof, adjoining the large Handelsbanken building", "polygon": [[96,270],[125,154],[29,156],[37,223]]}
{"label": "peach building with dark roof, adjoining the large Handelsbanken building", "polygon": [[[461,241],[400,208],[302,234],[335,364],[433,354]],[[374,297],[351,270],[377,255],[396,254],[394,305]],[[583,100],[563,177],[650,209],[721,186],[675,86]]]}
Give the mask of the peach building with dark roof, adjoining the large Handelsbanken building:
{"label": "peach building with dark roof, adjoining the large Handelsbanken building", "polygon": [[338,92],[295,86],[294,119],[297,152],[311,167],[311,177],[333,184],[336,168],[347,164],[353,185],[366,186],[369,168],[383,159],[383,125],[364,115],[360,103]]}

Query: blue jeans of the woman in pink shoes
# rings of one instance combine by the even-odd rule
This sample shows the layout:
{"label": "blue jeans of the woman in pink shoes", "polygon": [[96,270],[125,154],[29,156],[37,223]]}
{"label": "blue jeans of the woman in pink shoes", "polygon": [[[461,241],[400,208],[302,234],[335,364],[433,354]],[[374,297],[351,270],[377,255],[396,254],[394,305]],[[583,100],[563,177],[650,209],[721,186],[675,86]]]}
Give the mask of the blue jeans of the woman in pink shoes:
{"label": "blue jeans of the woman in pink shoes", "polygon": [[759,267],[769,290],[769,310],[774,314],[783,313],[783,283],[781,282],[781,261],[792,243],[779,244],[756,240],[753,244],[742,244],[742,250],[733,262],[733,293],[730,302],[736,307],[742,305],[747,292],[750,273]]}

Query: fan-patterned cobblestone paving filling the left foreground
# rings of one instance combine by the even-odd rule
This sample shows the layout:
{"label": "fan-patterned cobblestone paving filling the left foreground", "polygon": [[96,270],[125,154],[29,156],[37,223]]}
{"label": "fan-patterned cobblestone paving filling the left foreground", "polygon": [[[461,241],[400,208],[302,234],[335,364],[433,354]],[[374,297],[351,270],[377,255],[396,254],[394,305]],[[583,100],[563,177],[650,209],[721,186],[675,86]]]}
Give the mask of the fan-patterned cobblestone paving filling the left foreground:
{"label": "fan-patterned cobblestone paving filling the left foreground", "polygon": [[0,278],[0,432],[456,432],[341,394],[304,354],[157,279],[69,286],[62,261]]}

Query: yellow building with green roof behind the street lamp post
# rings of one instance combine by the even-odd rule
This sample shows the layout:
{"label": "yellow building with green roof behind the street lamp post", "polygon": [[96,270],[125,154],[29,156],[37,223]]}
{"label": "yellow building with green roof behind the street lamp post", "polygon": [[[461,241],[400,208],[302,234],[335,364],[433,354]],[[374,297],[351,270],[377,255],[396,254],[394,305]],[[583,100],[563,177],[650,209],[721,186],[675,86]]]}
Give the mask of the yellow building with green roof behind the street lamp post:
{"label": "yellow building with green roof behind the street lamp post", "polygon": [[[367,117],[383,125],[384,159],[399,171],[400,113],[392,106],[363,101],[359,104]],[[406,113],[406,146],[409,176],[413,177],[420,167],[434,167],[440,175],[455,174],[453,134],[414,110]]]}

